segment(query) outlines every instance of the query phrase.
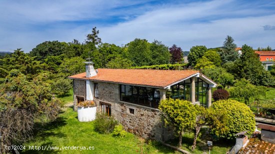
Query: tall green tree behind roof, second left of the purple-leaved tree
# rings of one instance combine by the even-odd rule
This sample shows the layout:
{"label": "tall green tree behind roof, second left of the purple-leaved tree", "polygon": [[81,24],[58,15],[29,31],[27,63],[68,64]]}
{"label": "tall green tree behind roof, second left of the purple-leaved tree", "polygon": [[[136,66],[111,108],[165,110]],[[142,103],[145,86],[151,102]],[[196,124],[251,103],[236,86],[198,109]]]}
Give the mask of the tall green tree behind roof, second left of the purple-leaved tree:
{"label": "tall green tree behind roof, second left of the purple-leaved tree", "polygon": [[129,60],[133,62],[133,66],[150,65],[152,62],[150,44],[145,39],[135,38],[127,45]]}

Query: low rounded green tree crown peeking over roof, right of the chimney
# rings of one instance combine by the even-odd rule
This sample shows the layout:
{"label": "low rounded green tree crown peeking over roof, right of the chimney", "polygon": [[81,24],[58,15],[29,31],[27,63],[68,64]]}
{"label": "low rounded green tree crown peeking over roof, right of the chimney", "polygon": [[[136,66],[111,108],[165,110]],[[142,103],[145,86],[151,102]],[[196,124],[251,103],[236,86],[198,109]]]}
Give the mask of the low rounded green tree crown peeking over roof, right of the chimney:
{"label": "low rounded green tree crown peeking over roof, right of the chimney", "polygon": [[132,62],[129,59],[116,57],[110,60],[107,64],[107,68],[129,68],[131,67]]}

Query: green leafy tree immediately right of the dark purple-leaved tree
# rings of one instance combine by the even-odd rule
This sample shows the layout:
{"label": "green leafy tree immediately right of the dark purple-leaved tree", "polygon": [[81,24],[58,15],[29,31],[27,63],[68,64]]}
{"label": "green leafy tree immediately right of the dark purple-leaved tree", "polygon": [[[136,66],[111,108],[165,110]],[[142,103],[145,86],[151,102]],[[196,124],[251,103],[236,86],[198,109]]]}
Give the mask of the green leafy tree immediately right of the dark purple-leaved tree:
{"label": "green leafy tree immediately right of the dark purple-leaved tree", "polygon": [[195,66],[197,59],[201,58],[204,53],[207,51],[207,48],[204,45],[197,45],[190,48],[190,52],[187,56],[188,62],[191,66]]}

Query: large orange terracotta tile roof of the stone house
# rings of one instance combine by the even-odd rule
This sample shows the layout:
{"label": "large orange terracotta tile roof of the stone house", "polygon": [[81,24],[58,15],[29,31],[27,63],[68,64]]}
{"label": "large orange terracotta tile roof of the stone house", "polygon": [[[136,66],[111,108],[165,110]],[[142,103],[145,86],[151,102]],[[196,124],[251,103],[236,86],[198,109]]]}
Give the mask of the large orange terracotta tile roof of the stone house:
{"label": "large orange terracotta tile roof of the stone house", "polygon": [[71,79],[115,82],[151,87],[166,87],[199,73],[197,70],[152,70],[152,69],[97,69],[97,75],[86,78],[86,73],[69,76]]}

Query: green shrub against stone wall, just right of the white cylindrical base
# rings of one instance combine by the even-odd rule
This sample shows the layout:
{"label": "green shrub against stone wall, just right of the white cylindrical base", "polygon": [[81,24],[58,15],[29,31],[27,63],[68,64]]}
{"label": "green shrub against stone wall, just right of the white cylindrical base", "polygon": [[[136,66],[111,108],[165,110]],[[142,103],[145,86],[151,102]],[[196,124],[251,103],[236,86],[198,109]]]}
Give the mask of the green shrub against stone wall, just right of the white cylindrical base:
{"label": "green shrub against stone wall, just right of the white cylindrical base", "polygon": [[109,134],[113,131],[114,126],[117,125],[118,122],[113,117],[96,114],[93,124],[95,132],[100,134]]}

